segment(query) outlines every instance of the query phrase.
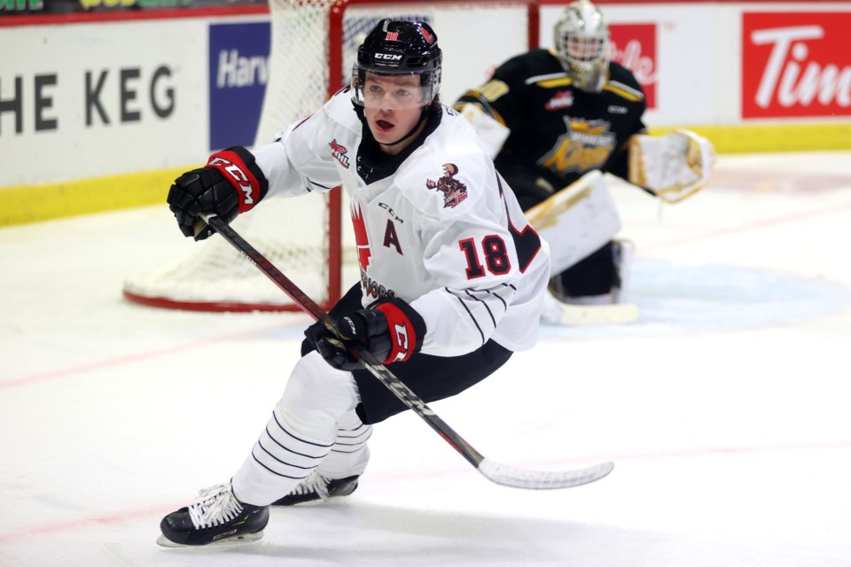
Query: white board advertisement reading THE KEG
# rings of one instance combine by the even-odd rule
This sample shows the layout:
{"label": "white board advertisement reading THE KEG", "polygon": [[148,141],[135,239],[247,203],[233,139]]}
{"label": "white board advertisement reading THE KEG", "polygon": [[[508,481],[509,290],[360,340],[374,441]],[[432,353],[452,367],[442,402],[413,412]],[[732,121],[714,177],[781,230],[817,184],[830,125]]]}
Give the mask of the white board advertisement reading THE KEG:
{"label": "white board advertisement reading THE KEG", "polygon": [[12,27],[0,187],[193,163],[207,141],[202,21]]}

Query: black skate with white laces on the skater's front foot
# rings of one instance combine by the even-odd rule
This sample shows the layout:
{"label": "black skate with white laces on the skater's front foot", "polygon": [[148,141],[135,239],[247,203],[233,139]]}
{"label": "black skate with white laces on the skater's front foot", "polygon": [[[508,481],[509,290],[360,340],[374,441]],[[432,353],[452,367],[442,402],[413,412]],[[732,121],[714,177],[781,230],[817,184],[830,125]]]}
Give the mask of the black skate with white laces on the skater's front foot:
{"label": "black skate with white laces on the skater's front foot", "polygon": [[162,518],[162,535],[157,543],[166,548],[182,548],[260,540],[268,523],[268,506],[238,501],[230,483],[215,485],[202,490],[194,503]]}

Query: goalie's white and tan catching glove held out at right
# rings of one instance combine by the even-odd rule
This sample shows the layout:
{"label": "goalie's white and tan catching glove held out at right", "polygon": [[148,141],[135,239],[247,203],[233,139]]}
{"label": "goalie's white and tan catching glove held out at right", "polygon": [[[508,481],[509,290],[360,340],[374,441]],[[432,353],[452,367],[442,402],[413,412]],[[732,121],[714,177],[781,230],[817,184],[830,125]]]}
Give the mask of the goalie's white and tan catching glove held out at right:
{"label": "goalie's white and tan catching glove held out at right", "polygon": [[714,166],[712,143],[691,130],[629,138],[629,183],[678,203],[703,189]]}

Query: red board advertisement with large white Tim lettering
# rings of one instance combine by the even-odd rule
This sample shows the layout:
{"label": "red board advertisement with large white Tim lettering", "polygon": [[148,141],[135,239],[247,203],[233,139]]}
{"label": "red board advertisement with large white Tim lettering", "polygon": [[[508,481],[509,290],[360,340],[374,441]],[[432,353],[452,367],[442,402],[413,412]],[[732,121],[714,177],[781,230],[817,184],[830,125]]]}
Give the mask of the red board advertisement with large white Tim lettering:
{"label": "red board advertisement with large white Tim lettering", "polygon": [[851,12],[742,14],[742,118],[851,116]]}

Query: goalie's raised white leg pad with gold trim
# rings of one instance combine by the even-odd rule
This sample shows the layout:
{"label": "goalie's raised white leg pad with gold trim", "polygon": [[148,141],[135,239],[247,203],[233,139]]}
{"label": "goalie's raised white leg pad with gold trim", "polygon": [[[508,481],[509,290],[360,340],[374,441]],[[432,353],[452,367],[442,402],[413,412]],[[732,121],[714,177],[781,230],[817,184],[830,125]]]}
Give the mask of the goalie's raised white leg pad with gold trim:
{"label": "goalie's raised white leg pad with gold trim", "polygon": [[603,174],[592,170],[526,212],[550,245],[550,275],[599,250],[621,229],[621,216]]}

